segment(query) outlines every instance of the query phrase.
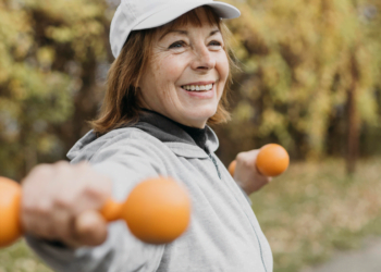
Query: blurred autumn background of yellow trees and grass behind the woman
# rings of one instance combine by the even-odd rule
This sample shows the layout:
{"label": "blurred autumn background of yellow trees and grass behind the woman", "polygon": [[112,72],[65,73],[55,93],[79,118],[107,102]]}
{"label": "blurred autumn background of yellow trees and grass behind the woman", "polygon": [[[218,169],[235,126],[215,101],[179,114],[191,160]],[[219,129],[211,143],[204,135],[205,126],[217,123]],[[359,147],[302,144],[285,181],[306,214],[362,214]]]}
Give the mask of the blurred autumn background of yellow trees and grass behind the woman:
{"label": "blurred autumn background of yellow trees and grass behind the woman", "polygon": [[[101,104],[118,0],[0,0],[0,175],[65,160]],[[288,171],[251,195],[275,272],[381,236],[381,1],[225,0],[239,70],[218,156],[268,143]],[[21,242],[0,272],[50,271]],[[366,271],[366,270],[361,270]]]}

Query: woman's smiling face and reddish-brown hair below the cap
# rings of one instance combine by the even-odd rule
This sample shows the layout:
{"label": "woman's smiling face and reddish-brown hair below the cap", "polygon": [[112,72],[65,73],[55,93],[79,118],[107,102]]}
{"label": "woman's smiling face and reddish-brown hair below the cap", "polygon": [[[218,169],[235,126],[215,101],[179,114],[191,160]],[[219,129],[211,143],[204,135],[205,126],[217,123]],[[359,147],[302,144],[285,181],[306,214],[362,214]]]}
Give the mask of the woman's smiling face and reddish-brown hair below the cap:
{"label": "woman's smiling face and reddish-brown hair below the cap", "polygon": [[[186,125],[195,127],[204,127],[205,121],[209,124],[229,121],[230,67],[235,66],[229,40],[229,29],[207,5],[190,10],[163,26],[132,32],[109,72],[99,119],[91,122],[94,131],[102,135],[136,122],[142,108],[170,114],[180,123],[188,118]],[[200,60],[204,63],[199,63]],[[169,81],[172,81],[172,90]],[[168,85],[159,88],[158,83]],[[206,94],[184,96],[181,91],[181,88],[197,90],[197,86],[200,89],[210,84],[212,90],[204,91]],[[204,108],[209,109],[198,112],[192,102],[197,98],[205,98]],[[186,112],[187,109],[192,112]],[[208,116],[205,120],[200,114]]]}

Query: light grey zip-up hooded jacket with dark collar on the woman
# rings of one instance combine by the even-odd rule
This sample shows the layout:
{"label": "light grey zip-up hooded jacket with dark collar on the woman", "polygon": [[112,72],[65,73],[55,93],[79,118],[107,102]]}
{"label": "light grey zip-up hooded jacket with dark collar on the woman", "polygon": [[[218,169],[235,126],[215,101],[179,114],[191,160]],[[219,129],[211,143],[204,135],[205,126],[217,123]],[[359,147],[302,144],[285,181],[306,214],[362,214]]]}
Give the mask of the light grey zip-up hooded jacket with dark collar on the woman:
{"label": "light grey zip-up hooded jacket with dark collar on the woman", "polygon": [[72,163],[89,161],[110,176],[120,201],[147,177],[183,183],[192,197],[192,220],[175,242],[145,244],[120,221],[109,225],[108,239],[98,247],[73,250],[27,236],[29,246],[64,272],[271,272],[271,249],[247,196],[216,157],[216,134],[207,126],[204,135],[197,145],[177,123],[145,112],[133,126],[99,138],[87,133],[67,154]]}

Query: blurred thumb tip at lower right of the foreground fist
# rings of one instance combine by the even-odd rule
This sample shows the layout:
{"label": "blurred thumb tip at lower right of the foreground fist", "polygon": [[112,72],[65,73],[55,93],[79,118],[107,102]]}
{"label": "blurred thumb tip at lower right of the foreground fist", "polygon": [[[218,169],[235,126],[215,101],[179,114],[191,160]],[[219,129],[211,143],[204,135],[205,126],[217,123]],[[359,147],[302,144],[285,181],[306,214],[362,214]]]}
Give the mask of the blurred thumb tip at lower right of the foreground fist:
{"label": "blurred thumb tip at lower right of the foreground fist", "polygon": [[107,222],[97,211],[85,211],[74,222],[76,243],[84,246],[99,246],[107,239]]}

